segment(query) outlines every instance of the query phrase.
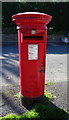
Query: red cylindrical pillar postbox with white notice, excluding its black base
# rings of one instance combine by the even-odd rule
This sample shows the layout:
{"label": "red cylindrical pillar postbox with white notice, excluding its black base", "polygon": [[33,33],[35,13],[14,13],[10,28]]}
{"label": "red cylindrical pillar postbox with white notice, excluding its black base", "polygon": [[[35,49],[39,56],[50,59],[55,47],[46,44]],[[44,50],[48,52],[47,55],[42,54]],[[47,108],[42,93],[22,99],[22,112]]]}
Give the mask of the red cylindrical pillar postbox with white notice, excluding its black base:
{"label": "red cylindrical pillar postbox with white notice, excluding its black base", "polygon": [[12,16],[18,25],[20,92],[26,98],[44,94],[47,27],[52,16],[24,12]]}

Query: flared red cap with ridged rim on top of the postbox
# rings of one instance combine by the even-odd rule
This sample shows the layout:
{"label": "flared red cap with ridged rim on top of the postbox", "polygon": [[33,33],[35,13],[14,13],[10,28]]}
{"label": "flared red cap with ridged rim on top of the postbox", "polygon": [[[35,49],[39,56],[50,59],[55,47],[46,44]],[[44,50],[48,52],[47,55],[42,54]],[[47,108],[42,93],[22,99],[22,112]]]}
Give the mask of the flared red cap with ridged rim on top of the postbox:
{"label": "flared red cap with ridged rim on top of the postbox", "polygon": [[47,25],[51,19],[52,16],[40,12],[24,12],[12,16],[12,21],[14,21],[18,26],[27,24]]}

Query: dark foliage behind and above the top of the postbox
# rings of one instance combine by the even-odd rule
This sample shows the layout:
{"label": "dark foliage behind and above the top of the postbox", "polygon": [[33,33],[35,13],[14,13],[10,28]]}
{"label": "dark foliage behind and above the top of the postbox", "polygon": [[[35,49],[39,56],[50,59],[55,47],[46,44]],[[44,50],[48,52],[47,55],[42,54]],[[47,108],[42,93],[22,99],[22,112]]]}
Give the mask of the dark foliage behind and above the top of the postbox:
{"label": "dark foliage behind and above the top of the postbox", "polygon": [[41,12],[52,15],[47,27],[54,32],[69,31],[69,2],[3,2],[2,28],[16,27],[11,16],[21,12]]}

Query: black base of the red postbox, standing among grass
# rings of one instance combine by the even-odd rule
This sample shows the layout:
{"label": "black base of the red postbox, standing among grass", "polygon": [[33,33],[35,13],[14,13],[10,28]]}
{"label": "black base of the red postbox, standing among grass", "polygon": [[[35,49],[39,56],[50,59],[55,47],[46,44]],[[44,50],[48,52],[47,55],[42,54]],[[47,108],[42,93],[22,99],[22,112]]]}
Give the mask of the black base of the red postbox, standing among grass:
{"label": "black base of the red postbox, standing among grass", "polygon": [[41,102],[43,97],[44,95],[41,95],[40,97],[37,98],[27,98],[21,95],[21,104],[25,106],[27,109],[31,109],[33,104]]}

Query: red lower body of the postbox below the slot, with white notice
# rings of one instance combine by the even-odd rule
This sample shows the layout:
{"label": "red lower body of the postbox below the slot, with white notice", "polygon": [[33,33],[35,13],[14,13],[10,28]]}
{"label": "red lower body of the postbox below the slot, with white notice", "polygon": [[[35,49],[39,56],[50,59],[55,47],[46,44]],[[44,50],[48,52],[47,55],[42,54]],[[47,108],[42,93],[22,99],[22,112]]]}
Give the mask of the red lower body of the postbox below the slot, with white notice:
{"label": "red lower body of the postbox below the slot, with white notice", "polygon": [[21,47],[21,93],[35,98],[44,94],[45,44],[23,43]]}

